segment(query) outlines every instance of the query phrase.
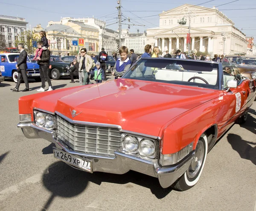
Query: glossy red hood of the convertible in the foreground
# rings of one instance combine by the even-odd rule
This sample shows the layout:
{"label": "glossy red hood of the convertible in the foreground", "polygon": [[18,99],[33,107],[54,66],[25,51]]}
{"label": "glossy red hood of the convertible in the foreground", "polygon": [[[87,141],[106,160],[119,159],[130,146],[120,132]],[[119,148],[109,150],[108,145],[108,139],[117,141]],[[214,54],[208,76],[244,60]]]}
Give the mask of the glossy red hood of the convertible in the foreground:
{"label": "glossy red hood of the convertible in the foreground", "polygon": [[[220,93],[220,90],[119,78],[45,95],[35,100],[34,107],[57,111],[76,121],[115,124],[122,130],[158,136],[168,121],[219,97]],[[73,117],[72,110],[79,115]]]}

